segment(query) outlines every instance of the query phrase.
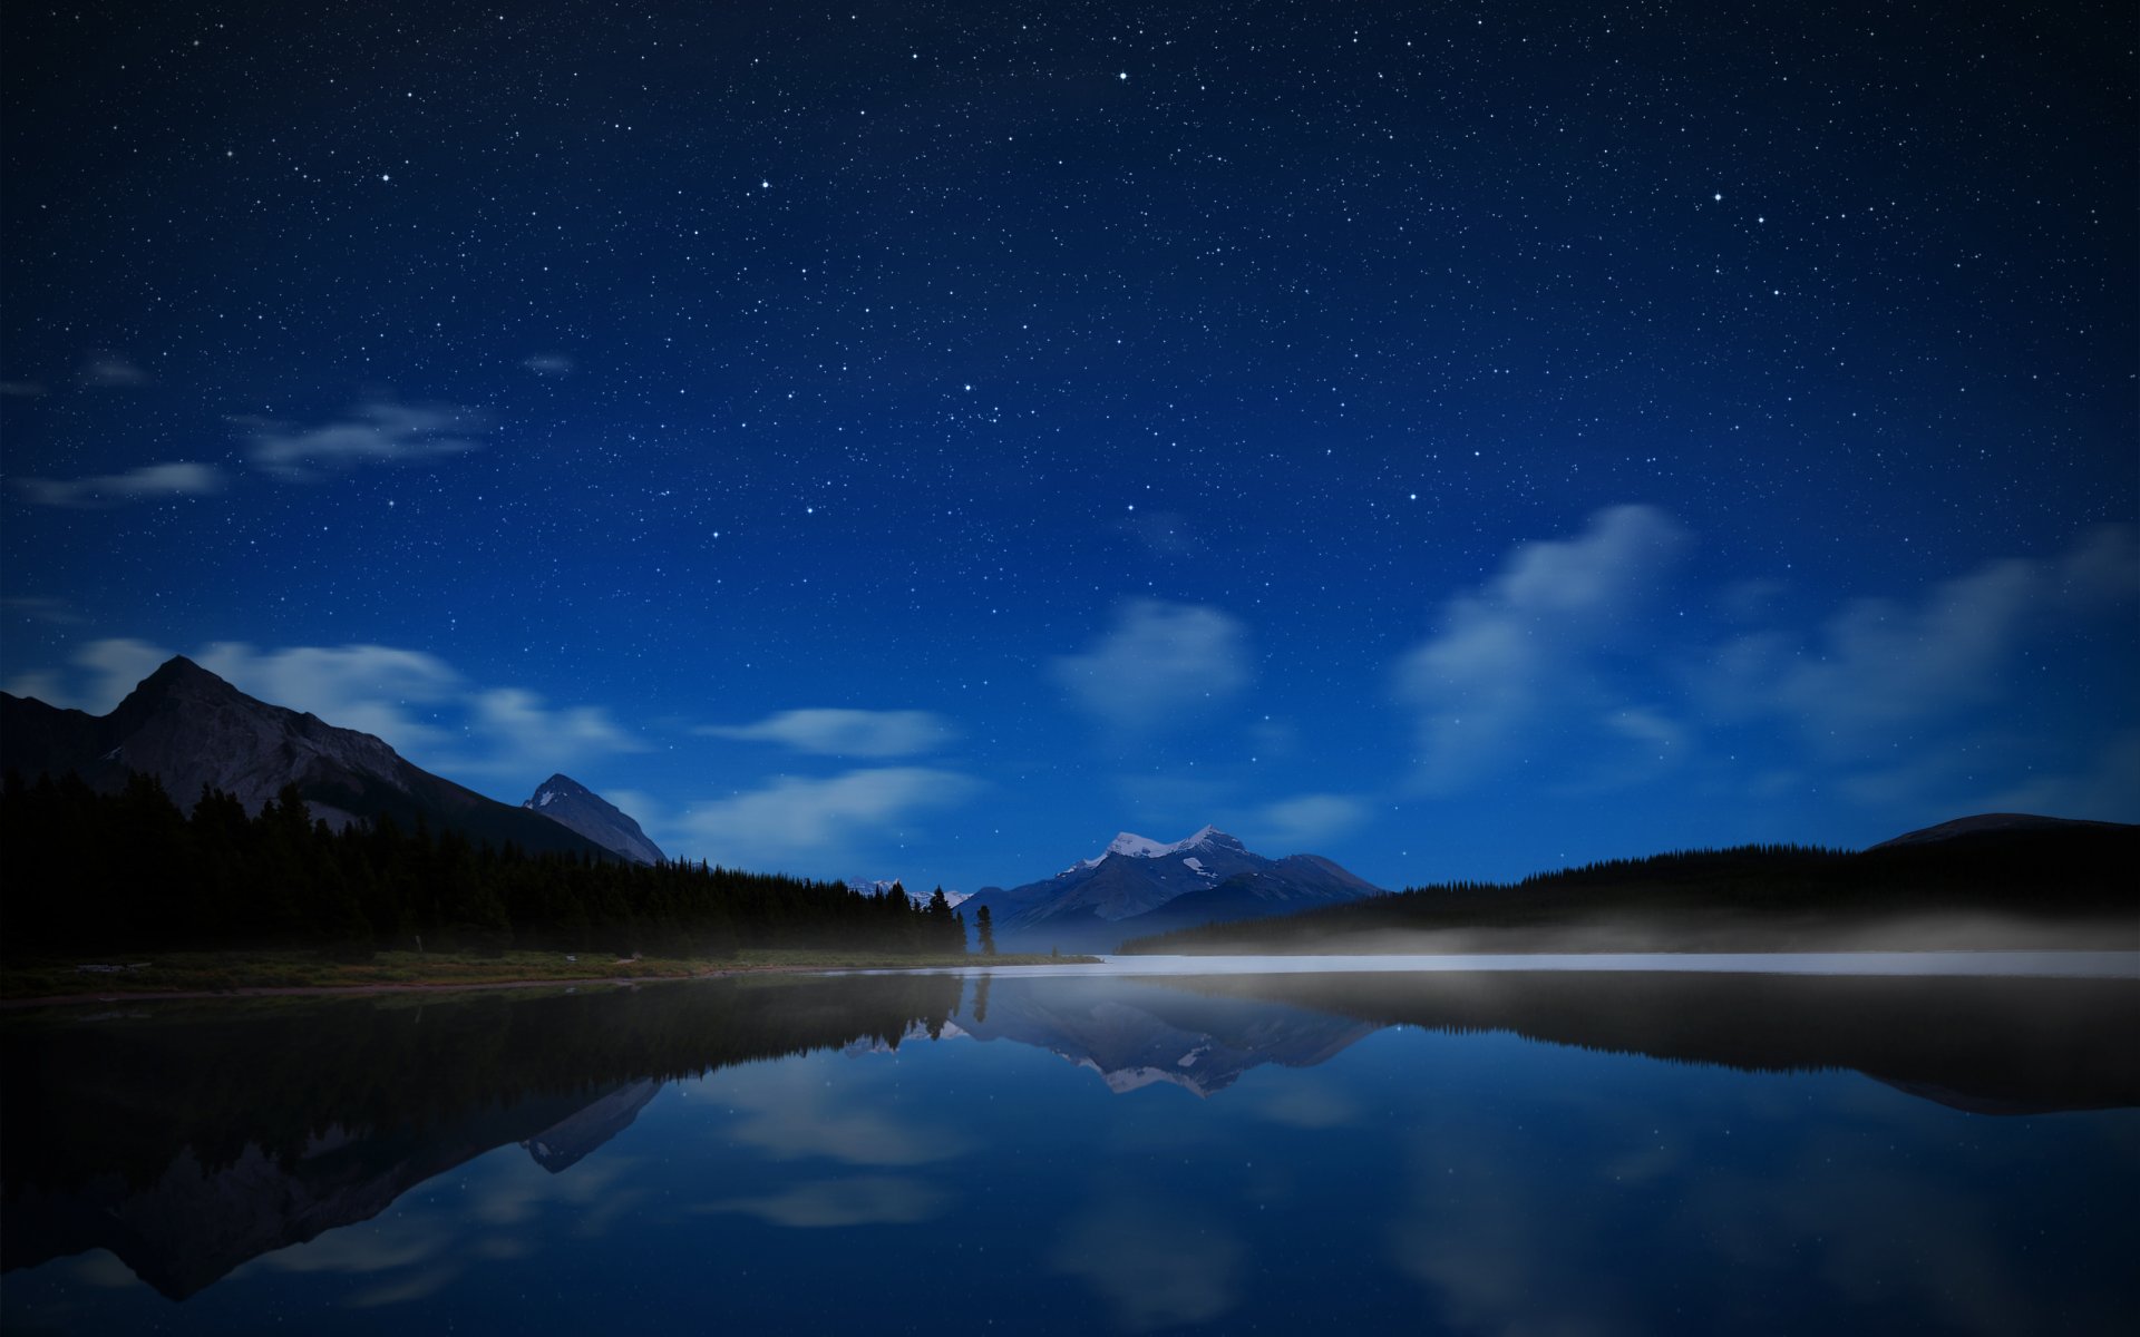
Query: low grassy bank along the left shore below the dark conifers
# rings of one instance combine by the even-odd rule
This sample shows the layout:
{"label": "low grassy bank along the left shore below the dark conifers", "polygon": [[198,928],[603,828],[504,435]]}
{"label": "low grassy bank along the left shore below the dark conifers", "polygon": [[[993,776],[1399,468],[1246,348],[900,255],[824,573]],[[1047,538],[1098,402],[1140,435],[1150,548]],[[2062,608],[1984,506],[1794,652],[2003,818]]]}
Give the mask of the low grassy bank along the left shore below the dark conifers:
{"label": "low grassy bank along the left shore below the dark conifers", "polygon": [[918,969],[967,965],[1046,965],[1091,956],[929,956],[807,948],[743,950],[723,958],[608,952],[379,952],[336,961],[319,952],[156,952],[103,961],[21,961],[0,967],[0,999],[113,997],[139,993],[231,993],[248,988],[407,988],[486,984],[571,984],[578,980],[689,980],[811,969]]}

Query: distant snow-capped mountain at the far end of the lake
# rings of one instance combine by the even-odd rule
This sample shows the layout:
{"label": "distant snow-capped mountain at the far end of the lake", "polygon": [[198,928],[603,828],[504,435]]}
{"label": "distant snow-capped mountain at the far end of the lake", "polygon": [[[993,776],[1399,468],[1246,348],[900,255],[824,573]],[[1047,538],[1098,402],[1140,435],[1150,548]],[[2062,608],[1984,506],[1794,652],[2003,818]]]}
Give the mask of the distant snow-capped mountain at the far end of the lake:
{"label": "distant snow-capped mountain at the far end of the lake", "polygon": [[982,888],[965,909],[972,920],[987,905],[1004,948],[1111,952],[1126,937],[1256,920],[1378,892],[1327,858],[1265,858],[1205,826],[1171,845],[1121,832],[1094,858],[1046,881]]}

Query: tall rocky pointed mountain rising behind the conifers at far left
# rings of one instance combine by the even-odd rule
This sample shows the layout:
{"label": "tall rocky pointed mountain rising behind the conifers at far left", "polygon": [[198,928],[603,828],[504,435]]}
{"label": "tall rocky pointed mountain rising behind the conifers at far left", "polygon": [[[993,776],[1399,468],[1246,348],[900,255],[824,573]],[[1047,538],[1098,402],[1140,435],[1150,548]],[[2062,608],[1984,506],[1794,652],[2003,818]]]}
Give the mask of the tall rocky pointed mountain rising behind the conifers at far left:
{"label": "tall rocky pointed mountain rising behind the conifers at far left", "polygon": [[111,714],[0,693],[0,770],[24,779],[73,770],[96,789],[118,789],[139,770],[182,809],[208,785],[248,813],[282,785],[297,785],[312,817],[336,828],[360,817],[394,817],[402,828],[422,819],[494,845],[608,854],[556,821],[411,766],[370,734],[257,702],[184,655],[143,678]]}

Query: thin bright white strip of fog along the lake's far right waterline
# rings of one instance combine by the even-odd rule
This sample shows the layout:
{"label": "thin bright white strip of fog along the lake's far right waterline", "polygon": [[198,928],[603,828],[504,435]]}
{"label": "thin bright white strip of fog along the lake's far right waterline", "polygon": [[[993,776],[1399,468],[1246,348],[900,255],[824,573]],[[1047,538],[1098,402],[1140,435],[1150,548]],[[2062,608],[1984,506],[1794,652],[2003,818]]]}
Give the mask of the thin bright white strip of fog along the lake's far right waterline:
{"label": "thin bright white strip of fog along the lake's far right waterline", "polygon": [[[1982,975],[2140,980],[2140,952],[1552,952],[1342,956],[1102,956],[1100,963],[946,967],[924,973],[1053,975],[1338,975],[1468,971],[1667,971],[1723,975]],[[884,971],[856,971],[884,973]]]}

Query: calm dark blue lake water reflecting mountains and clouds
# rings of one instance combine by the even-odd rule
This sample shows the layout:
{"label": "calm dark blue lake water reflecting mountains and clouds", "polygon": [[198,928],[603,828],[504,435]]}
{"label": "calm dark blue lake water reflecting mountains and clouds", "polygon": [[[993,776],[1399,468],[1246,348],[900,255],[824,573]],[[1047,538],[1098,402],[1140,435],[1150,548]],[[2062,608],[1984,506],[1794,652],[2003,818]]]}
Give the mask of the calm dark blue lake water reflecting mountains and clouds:
{"label": "calm dark blue lake water reflecting mountains and clouds", "polygon": [[9,1333],[2112,1333],[2140,984],[869,975],[0,1018]]}

